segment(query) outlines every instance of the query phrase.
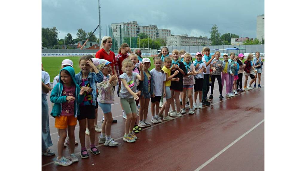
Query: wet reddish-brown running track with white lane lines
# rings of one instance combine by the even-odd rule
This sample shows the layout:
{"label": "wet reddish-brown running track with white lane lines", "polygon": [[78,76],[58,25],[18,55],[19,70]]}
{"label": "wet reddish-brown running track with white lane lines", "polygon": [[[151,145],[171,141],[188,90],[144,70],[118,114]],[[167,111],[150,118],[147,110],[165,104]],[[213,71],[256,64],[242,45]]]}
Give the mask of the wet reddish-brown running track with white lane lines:
{"label": "wet reddish-brown running track with white lane lines", "polygon": [[[79,162],[67,167],[55,166],[55,156],[42,156],[42,169],[264,170],[264,79],[263,68],[261,89],[242,92],[233,98],[223,100],[218,98],[216,80],[212,105],[196,109],[194,115],[185,114],[174,120],[152,123],[152,126],[136,134],[138,140],[135,143],[126,143],[122,140],[125,119],[122,118],[119,98],[115,96],[112,114],[118,123],[112,125],[111,136],[119,142],[118,147],[105,147],[99,144],[100,133],[95,132],[95,144],[100,151],[99,155],[89,152],[90,158],[81,159],[78,155],[81,148],[79,143],[75,148]],[[210,92],[208,96],[209,94]],[[48,105],[50,113],[50,99]],[[54,128],[54,120],[52,116],[49,117],[53,142],[50,149],[56,152],[58,135]],[[150,109],[147,120],[151,121]],[[101,126],[101,123],[102,110],[99,108],[98,125]],[[78,126],[76,125],[75,130],[77,141]],[[89,136],[86,135],[88,149],[89,145]],[[68,148],[63,151],[65,156],[69,155]]]}

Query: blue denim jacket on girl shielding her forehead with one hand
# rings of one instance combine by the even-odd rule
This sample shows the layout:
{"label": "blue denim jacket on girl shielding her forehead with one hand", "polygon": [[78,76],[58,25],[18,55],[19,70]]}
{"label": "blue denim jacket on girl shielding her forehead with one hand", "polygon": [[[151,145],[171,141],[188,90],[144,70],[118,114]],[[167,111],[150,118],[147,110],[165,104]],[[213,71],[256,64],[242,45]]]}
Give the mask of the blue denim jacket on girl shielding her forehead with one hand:
{"label": "blue denim jacket on girl shielding her forehead with one hand", "polygon": [[[80,71],[79,73],[77,73],[75,75],[76,78],[76,84],[78,84],[80,86],[81,82],[82,82],[82,71]],[[101,83],[103,81],[103,73],[101,71],[99,71],[99,73],[92,73],[89,72],[88,76],[87,76],[88,82],[90,83],[90,86],[92,88],[92,95],[93,95],[93,99],[92,99],[92,105],[96,105],[96,100],[97,100],[97,83]]]}

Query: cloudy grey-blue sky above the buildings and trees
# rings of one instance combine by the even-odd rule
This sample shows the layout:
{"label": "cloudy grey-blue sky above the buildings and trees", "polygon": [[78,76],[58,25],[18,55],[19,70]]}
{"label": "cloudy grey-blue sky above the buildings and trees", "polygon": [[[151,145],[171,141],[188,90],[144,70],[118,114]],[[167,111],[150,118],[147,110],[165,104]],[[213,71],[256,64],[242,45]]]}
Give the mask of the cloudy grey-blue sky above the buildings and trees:
{"label": "cloudy grey-blue sky above the buildings and trees", "polygon": [[[139,25],[157,25],[171,34],[210,37],[217,24],[222,34],[256,38],[256,16],[264,14],[264,0],[101,0],[101,37],[108,35],[107,25],[137,21]],[[42,27],[56,27],[58,38],[77,29],[93,31],[99,24],[98,0],[42,0]],[[95,31],[99,37],[99,28]]]}

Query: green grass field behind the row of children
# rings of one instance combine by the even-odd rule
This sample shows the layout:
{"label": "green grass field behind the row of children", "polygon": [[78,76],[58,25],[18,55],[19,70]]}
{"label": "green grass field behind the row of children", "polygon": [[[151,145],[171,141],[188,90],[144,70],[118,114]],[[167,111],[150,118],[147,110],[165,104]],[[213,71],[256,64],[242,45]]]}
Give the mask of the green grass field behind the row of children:
{"label": "green grass field behind the row of children", "polygon": [[[67,56],[67,57],[42,57],[41,61],[43,62],[43,69],[49,73],[50,75],[50,82],[53,82],[53,79],[55,76],[59,74],[59,70],[61,69],[62,61],[64,59],[70,59],[73,61],[73,67],[75,73],[80,72],[79,67],[79,59],[80,56]],[[153,58],[149,58],[151,60],[151,64],[153,64]],[[195,58],[192,58],[192,60],[196,60]],[[223,60],[223,59],[221,59]],[[244,62],[245,59],[243,59]],[[264,62],[264,60],[263,60]],[[151,65],[151,69],[153,69],[155,66]]]}

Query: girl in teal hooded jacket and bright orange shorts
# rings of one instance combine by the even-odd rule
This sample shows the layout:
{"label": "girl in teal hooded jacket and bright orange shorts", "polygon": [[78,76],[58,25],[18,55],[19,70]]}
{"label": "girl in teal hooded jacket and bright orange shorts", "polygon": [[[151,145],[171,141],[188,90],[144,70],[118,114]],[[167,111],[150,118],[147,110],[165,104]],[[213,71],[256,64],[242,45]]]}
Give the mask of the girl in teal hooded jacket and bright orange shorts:
{"label": "girl in teal hooded jacket and bright orange shorts", "polygon": [[[61,69],[59,83],[54,86],[50,96],[51,102],[54,103],[51,116],[55,117],[55,127],[60,132],[58,157],[55,159],[55,164],[62,166],[69,166],[73,162],[79,161],[74,154],[74,129],[76,117],[80,114],[79,104],[84,100],[84,89],[80,89],[80,86],[76,84],[74,76],[74,69],[71,66]],[[63,156],[67,127],[71,153],[68,159]]]}

